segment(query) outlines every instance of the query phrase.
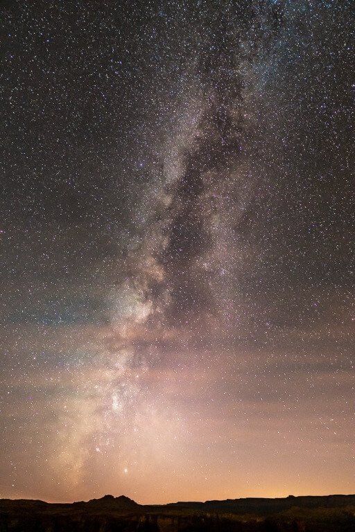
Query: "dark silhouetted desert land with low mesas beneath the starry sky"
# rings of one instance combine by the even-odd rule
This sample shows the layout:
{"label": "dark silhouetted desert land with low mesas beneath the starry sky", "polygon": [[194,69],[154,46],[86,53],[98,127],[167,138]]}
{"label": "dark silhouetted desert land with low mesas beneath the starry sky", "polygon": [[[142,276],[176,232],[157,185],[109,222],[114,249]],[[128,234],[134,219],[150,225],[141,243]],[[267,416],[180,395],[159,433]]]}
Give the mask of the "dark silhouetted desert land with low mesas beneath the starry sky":
{"label": "dark silhouetted desert land with low mesas beneath the starry sky", "polygon": [[73,504],[0,499],[0,532],[355,532],[355,495],[142,506],[128,497]]}

